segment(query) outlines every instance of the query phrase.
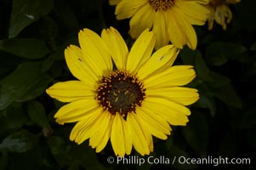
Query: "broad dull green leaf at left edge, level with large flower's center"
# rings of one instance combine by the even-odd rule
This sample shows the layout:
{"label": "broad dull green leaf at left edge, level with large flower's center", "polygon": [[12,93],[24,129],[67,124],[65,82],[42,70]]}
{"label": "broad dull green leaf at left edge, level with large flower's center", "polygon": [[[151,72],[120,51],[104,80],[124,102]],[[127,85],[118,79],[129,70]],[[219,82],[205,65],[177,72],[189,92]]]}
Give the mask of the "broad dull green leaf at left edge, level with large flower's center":
{"label": "broad dull green leaf at left edge, level with large flower's center", "polygon": [[0,86],[0,110],[20,99],[41,79],[41,62],[20,64],[9,76],[3,78]]}

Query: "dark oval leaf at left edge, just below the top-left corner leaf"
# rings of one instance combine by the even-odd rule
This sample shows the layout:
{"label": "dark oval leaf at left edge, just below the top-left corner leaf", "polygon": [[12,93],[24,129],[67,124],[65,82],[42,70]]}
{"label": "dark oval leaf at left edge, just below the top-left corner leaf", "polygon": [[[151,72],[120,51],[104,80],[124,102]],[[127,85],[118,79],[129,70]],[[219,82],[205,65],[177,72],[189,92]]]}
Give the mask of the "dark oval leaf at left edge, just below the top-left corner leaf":
{"label": "dark oval leaf at left edge, just below the top-left corner leaf", "polygon": [[50,51],[45,42],[35,38],[1,40],[0,49],[25,59],[41,59]]}

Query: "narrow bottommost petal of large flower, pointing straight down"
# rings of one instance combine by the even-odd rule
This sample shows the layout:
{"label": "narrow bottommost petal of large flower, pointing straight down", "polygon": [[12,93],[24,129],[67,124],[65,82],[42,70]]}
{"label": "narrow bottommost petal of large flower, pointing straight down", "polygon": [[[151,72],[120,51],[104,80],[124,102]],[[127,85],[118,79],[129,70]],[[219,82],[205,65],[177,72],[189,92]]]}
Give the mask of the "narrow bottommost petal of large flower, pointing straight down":
{"label": "narrow bottommost petal of large flower, pointing straight down", "polygon": [[111,128],[111,144],[116,156],[124,156],[125,140],[122,127],[122,116],[116,114]]}

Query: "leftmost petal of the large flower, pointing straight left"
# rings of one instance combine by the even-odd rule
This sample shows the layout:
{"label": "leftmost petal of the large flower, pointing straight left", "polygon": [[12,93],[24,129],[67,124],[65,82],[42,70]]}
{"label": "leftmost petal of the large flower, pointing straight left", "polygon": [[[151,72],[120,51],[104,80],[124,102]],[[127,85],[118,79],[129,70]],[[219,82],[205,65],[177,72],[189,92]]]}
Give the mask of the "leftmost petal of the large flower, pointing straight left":
{"label": "leftmost petal of the large flower, pointing straight left", "polygon": [[72,102],[78,99],[92,99],[95,90],[80,81],[57,82],[46,90],[46,93],[54,99],[62,102]]}

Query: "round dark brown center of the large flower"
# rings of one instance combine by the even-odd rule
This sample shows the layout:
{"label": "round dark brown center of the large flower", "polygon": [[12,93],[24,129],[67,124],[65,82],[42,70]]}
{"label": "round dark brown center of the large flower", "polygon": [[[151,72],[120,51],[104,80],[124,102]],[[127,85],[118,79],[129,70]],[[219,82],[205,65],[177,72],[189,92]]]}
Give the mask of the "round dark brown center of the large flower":
{"label": "round dark brown center of the large flower", "polygon": [[102,78],[96,99],[112,115],[119,113],[126,118],[145,99],[145,88],[142,82],[127,71],[113,71]]}

